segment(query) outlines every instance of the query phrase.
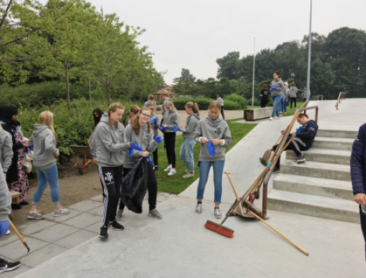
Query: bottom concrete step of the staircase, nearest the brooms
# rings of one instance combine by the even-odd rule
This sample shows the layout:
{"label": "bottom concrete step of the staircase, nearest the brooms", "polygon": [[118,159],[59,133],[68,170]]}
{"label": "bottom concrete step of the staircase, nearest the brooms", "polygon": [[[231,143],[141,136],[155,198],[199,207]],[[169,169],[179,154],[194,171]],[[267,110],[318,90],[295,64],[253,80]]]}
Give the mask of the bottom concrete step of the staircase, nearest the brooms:
{"label": "bottom concrete step of the staircase, nearest the brooms", "polygon": [[332,197],[273,189],[268,195],[268,209],[360,223],[358,205],[355,202]]}

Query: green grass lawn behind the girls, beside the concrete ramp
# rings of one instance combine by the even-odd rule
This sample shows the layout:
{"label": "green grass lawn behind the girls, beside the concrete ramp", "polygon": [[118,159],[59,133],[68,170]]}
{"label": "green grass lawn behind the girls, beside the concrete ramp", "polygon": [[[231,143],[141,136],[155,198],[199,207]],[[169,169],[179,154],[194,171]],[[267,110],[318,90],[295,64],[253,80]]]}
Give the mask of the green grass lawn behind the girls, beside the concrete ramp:
{"label": "green grass lawn behind the girls, beside the concrete ramp", "polygon": [[[226,153],[233,148],[236,143],[238,143],[245,135],[247,135],[250,130],[255,128],[253,123],[233,123],[235,120],[242,120],[242,118],[227,120],[231,132],[231,143],[226,148]],[[156,178],[158,179],[158,191],[179,194],[185,188],[187,188],[192,182],[200,177],[200,170],[198,168],[198,160],[200,157],[200,144],[196,143],[194,147],[193,158],[195,160],[195,176],[188,179],[183,179],[185,175],[185,165],[183,160],[179,158],[179,152],[181,150],[181,145],[183,143],[182,135],[177,135],[176,137],[176,170],[177,173],[168,177],[168,172],[164,172],[164,169],[168,166],[168,159],[166,158],[166,151],[164,150],[163,143],[159,145],[158,158],[159,158],[159,172],[156,173]]]}

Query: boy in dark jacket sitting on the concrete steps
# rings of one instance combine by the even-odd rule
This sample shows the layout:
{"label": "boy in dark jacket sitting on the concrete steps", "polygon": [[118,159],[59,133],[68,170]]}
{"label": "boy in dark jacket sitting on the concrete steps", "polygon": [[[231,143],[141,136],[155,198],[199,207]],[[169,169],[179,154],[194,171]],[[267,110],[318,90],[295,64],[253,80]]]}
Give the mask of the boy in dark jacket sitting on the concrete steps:
{"label": "boy in dark jacket sitting on the concrete steps", "polygon": [[[296,162],[301,163],[305,161],[303,150],[309,150],[311,148],[314,138],[317,135],[317,123],[315,120],[310,120],[309,116],[305,113],[300,113],[297,120],[300,125],[303,125],[303,128],[301,128],[299,133],[295,136],[295,138],[293,138],[285,150],[293,150],[298,157]],[[281,133],[285,134],[285,130],[281,130]],[[294,133],[295,132],[288,135],[285,145],[288,143]],[[277,147],[278,145],[274,145],[272,150],[275,150]],[[273,173],[280,170],[280,160],[281,158],[278,158]]]}

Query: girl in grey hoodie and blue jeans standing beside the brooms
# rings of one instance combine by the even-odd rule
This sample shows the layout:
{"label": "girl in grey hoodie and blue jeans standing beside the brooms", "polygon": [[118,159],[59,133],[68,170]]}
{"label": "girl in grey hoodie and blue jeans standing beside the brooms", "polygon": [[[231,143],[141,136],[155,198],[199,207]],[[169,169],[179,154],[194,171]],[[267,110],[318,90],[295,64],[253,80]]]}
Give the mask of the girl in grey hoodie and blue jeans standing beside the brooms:
{"label": "girl in grey hoodie and blue jeans standing beside the brooms", "polygon": [[[230,145],[231,133],[225,120],[218,117],[221,105],[213,101],[208,106],[208,116],[198,123],[195,130],[195,141],[200,143],[200,181],[197,188],[197,205],[195,212],[202,213],[202,200],[205,186],[208,180],[208,173],[213,165],[213,184],[215,186],[215,208],[213,210],[216,218],[220,218],[220,203],[222,195],[223,168],[225,165],[225,147]],[[209,144],[209,145],[208,145]],[[212,144],[212,145],[211,145]],[[210,148],[210,151],[208,150]],[[214,152],[213,152],[214,150]]]}

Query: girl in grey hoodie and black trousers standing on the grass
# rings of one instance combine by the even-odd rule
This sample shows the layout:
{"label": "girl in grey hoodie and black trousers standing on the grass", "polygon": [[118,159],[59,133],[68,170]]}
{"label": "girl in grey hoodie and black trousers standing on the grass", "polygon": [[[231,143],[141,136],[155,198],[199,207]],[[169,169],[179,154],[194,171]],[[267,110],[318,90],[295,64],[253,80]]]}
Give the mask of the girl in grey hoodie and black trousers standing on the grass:
{"label": "girl in grey hoodie and black trousers standing on the grass", "polygon": [[176,131],[172,128],[179,127],[179,114],[171,101],[166,102],[166,113],[163,117],[163,125],[165,128],[164,141],[166,144],[166,157],[168,158],[168,167],[164,172],[169,172],[168,175],[174,175],[176,171]]}

